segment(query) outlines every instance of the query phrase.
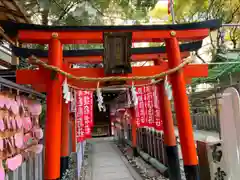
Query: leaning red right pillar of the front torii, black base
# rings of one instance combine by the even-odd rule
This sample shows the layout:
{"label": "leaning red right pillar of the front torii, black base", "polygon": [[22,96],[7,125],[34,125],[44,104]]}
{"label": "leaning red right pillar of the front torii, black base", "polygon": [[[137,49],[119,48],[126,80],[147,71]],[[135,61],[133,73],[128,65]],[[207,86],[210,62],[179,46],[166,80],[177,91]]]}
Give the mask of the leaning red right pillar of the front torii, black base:
{"label": "leaning red right pillar of the front torii, black base", "polygon": [[[175,68],[181,63],[181,55],[175,32],[172,38],[166,39],[166,50],[169,68]],[[174,105],[178,122],[179,137],[184,161],[184,170],[187,180],[198,180],[198,159],[193,138],[192,121],[189,112],[188,97],[186,94],[186,83],[183,71],[177,71],[170,75],[172,84]]]}

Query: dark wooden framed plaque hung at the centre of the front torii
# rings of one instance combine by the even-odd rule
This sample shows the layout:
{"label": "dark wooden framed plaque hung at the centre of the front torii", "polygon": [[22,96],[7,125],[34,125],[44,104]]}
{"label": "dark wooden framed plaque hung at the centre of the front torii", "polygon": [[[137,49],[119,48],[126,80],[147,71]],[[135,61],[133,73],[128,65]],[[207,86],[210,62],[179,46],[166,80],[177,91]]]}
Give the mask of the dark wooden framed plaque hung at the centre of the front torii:
{"label": "dark wooden framed plaque hung at the centre of the front torii", "polygon": [[104,36],[103,64],[105,75],[132,73],[130,57],[131,32],[106,32]]}

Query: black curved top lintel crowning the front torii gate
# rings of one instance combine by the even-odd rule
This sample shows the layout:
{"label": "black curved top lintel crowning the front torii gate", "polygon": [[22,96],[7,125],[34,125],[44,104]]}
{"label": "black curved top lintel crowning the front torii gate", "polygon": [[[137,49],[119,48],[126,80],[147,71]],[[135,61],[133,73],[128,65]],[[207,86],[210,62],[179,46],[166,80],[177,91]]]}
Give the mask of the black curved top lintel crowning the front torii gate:
{"label": "black curved top lintel crowning the front torii gate", "polygon": [[[208,20],[186,24],[167,24],[167,25],[124,25],[124,26],[44,26],[36,24],[15,23],[12,21],[0,21],[0,25],[10,36],[16,36],[19,30],[34,31],[146,31],[146,30],[195,30],[210,29],[216,30],[221,27],[220,20]],[[14,27],[14,28],[13,28]]]}

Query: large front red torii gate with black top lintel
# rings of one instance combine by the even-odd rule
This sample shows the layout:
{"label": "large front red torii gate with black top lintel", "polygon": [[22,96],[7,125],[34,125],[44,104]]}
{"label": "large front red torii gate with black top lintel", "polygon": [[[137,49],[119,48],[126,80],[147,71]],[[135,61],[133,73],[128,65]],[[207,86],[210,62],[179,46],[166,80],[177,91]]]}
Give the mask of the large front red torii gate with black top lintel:
{"label": "large front red torii gate with black top lintel", "polygon": [[[15,26],[17,26],[17,24]],[[64,69],[76,76],[89,75],[93,77],[92,73],[94,73],[94,76],[100,75],[102,77],[104,76],[103,71],[98,69],[69,69],[68,67],[64,67],[62,62],[62,44],[102,43],[102,32],[130,31],[132,32],[133,42],[159,42],[164,40],[168,57],[167,68],[172,69],[181,63],[178,41],[203,39],[208,36],[211,29],[219,27],[220,22],[212,20],[201,23],[167,26],[68,27],[65,31],[64,27],[44,27],[38,25],[22,25],[21,28],[17,26],[16,29],[18,29],[18,40],[20,42],[49,44],[48,63],[50,65]],[[184,70],[177,71],[170,75],[184,168],[186,178],[189,180],[198,179],[198,160],[192,133],[192,122],[189,113],[184,76],[186,75],[185,71],[190,67],[191,65],[187,66]],[[144,71],[133,68],[133,73],[128,76],[148,76],[158,74],[162,70],[165,70],[159,66],[143,68]],[[194,72],[195,71],[196,69]],[[23,78],[29,80],[25,81]],[[45,179],[57,179],[60,176],[62,79],[62,76],[57,74],[55,79],[50,80],[50,72],[42,68],[36,71],[26,70],[17,72],[17,81],[20,83],[36,84],[35,82],[37,82],[38,84],[47,84]],[[69,83],[86,88],[86,86],[76,81],[70,81]],[[88,87],[91,87],[91,83],[88,84]],[[53,137],[52,134],[55,136]]]}

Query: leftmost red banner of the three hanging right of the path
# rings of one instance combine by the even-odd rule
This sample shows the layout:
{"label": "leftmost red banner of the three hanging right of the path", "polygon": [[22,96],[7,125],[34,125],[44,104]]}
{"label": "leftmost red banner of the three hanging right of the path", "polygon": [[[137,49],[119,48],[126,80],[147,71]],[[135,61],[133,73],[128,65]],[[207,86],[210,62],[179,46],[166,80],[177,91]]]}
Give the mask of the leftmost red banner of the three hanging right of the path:
{"label": "leftmost red banner of the three hanging right of the path", "polygon": [[135,107],[137,127],[145,127],[146,126],[146,112],[144,105],[145,87],[136,87],[136,91],[138,98],[138,105]]}

